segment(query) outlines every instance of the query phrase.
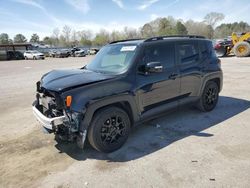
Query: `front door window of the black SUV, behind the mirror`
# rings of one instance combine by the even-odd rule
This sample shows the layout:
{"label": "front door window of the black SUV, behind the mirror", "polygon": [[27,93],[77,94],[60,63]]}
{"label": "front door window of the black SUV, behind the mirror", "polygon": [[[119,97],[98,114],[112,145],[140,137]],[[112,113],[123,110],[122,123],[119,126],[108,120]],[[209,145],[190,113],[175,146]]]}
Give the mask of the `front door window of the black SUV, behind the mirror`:
{"label": "front door window of the black SUV, behind the mirror", "polygon": [[173,67],[175,65],[174,44],[158,43],[145,47],[143,52],[143,64],[150,62],[160,62],[163,68]]}

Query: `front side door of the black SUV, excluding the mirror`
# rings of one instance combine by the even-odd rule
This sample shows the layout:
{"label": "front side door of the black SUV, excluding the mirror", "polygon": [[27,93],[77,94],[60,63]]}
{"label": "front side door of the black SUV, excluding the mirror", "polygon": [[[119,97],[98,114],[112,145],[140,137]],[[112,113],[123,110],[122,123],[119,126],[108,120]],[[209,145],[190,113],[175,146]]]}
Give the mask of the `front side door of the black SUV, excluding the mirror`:
{"label": "front side door of the black SUV, excluding the mirror", "polygon": [[[136,77],[138,103],[141,112],[170,103],[180,94],[179,71],[175,64],[175,48],[170,42],[150,42],[141,55]],[[162,72],[145,74],[143,67],[159,62]]]}

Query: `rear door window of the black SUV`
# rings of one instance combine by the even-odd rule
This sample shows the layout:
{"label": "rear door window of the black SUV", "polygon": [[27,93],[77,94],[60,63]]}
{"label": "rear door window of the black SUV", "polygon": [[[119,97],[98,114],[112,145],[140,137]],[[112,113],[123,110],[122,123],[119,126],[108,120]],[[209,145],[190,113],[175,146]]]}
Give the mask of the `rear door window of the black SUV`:
{"label": "rear door window of the black SUV", "polygon": [[195,43],[178,44],[177,49],[181,63],[194,63],[199,60],[199,51],[197,48],[197,44]]}

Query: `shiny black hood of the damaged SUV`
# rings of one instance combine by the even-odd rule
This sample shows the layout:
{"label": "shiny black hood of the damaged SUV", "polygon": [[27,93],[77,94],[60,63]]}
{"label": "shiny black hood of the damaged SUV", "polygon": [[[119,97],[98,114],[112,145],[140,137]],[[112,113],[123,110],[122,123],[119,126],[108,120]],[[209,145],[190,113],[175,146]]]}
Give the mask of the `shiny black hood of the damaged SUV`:
{"label": "shiny black hood of the damaged SUV", "polygon": [[69,88],[111,79],[114,75],[92,72],[86,69],[53,70],[41,79],[41,87],[51,91],[63,91]]}

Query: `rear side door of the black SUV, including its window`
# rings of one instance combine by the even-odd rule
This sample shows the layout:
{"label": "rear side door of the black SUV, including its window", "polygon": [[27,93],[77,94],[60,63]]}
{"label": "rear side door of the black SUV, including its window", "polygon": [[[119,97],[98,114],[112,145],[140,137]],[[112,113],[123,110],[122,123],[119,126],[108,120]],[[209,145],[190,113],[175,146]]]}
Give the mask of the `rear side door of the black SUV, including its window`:
{"label": "rear side door of the black SUV, including its window", "polygon": [[178,66],[181,77],[181,95],[198,96],[203,76],[197,41],[177,43]]}

